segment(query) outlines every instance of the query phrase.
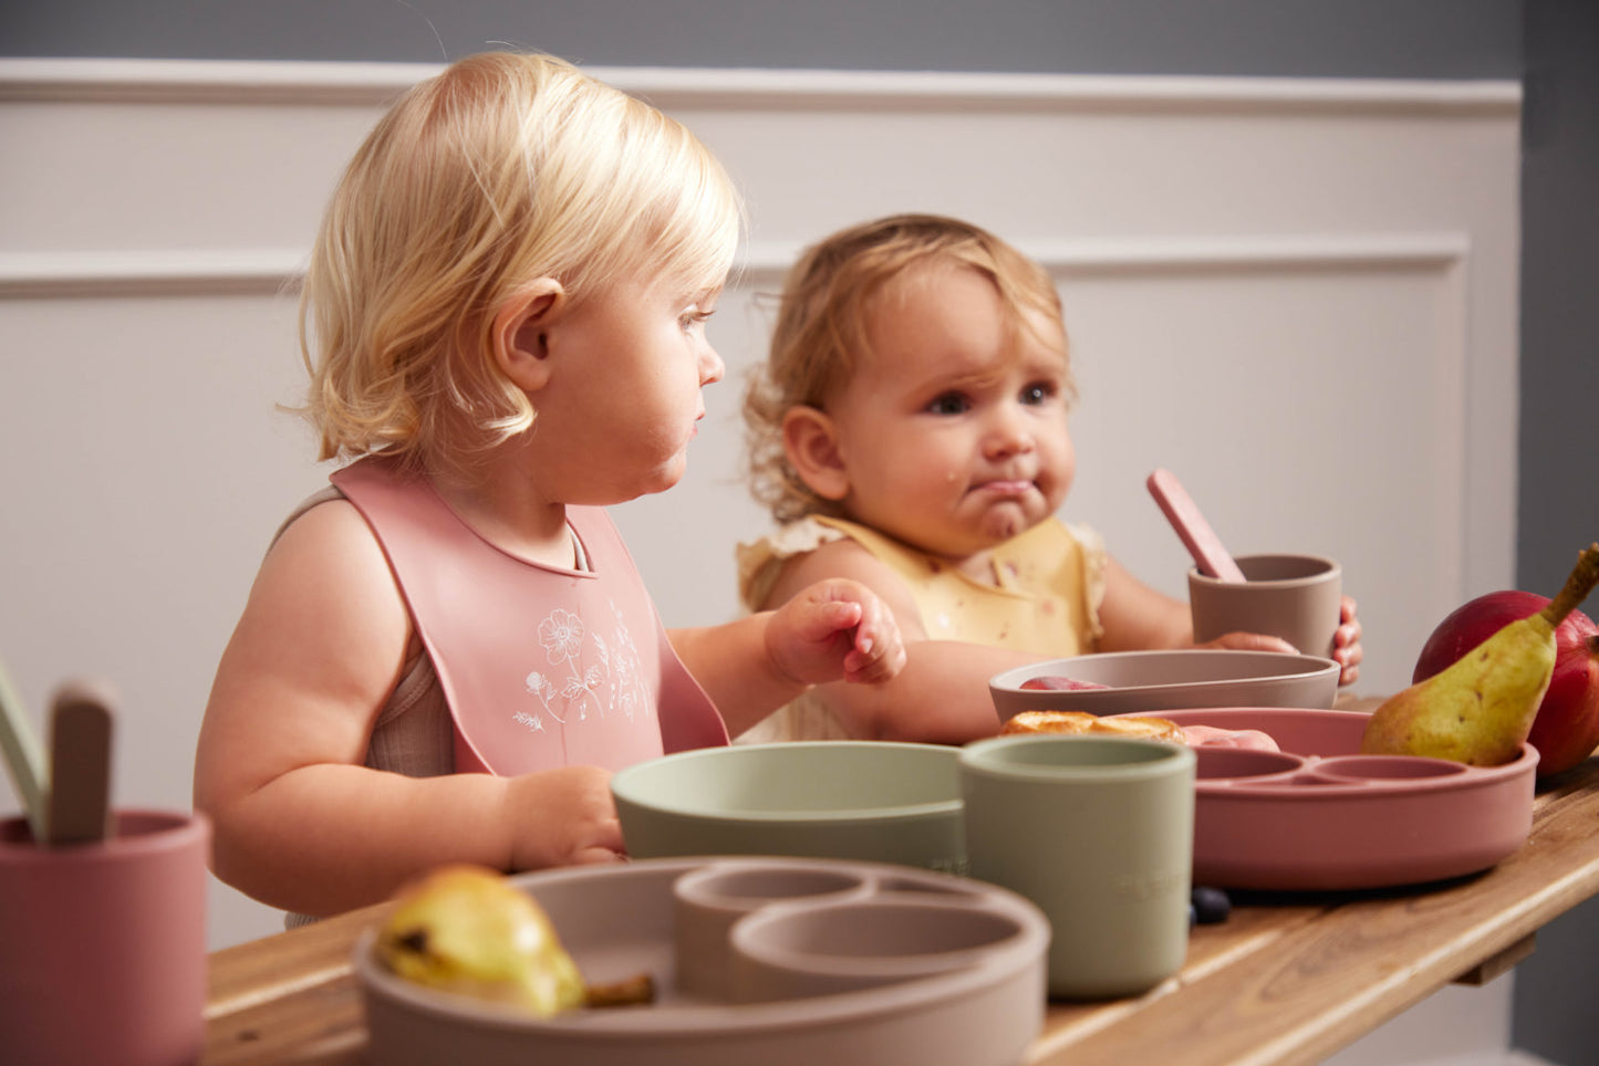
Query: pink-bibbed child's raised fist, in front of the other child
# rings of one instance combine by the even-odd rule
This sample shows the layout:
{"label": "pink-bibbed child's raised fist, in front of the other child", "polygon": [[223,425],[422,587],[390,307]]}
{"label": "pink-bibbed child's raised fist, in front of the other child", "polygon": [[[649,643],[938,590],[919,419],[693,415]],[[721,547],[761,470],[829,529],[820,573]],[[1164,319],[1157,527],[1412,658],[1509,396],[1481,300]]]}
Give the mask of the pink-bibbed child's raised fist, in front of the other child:
{"label": "pink-bibbed child's raised fist, in front of the other child", "polygon": [[859,582],[817,582],[772,614],[766,654],[801,682],[887,681],[905,668],[905,642],[887,604]]}

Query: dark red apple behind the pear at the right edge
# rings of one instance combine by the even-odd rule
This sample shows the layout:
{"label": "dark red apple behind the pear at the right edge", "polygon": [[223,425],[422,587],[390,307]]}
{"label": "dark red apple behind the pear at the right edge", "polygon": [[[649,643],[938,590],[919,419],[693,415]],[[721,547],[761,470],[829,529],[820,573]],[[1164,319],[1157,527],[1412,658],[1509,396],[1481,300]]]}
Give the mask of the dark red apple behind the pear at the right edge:
{"label": "dark red apple behind the pear at the right edge", "polygon": [[[1511,622],[1543,611],[1548,603],[1548,596],[1506,590],[1455,607],[1426,639],[1410,681],[1431,678]],[[1527,743],[1538,750],[1540,778],[1572,769],[1599,745],[1599,626],[1581,611],[1573,611],[1556,626],[1554,646],[1554,676],[1527,737]]]}

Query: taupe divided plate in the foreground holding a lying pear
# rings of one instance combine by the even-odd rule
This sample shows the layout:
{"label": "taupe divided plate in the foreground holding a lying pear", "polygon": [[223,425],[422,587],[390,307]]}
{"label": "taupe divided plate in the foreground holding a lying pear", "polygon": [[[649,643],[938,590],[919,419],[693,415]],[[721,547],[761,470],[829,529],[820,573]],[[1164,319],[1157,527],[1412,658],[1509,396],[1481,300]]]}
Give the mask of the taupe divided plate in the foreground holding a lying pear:
{"label": "taupe divided plate in the foreground holding a lying pear", "polygon": [[355,949],[374,1063],[1012,1066],[1044,1023],[1049,922],[977,881],[823,858],[523,874],[590,983],[656,1002],[550,1020],[405,981]]}

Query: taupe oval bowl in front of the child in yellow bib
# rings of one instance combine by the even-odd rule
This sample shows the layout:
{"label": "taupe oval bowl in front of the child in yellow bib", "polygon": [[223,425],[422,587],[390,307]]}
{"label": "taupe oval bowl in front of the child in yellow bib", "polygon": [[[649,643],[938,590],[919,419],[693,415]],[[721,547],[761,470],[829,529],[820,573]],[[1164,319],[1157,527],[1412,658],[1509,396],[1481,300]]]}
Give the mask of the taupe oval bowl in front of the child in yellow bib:
{"label": "taupe oval bowl in front of the child in yellow bib", "polygon": [[[1340,666],[1319,655],[1182,649],[1103,652],[1017,666],[988,681],[999,721],[1022,711],[1175,711],[1204,706],[1330,708]],[[1023,689],[1030,678],[1063,676],[1107,689]]]}

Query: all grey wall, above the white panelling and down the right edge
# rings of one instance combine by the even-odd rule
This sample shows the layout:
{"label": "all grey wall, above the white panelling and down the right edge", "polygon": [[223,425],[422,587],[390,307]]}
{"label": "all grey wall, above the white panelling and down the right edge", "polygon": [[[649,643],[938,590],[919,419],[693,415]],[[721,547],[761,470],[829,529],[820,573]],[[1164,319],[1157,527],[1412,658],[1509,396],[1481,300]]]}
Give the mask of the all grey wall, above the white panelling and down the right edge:
{"label": "all grey wall, above the white panelling and down the right edge", "polygon": [[[1599,5],[1593,0],[0,0],[3,56],[1519,78],[1517,587],[1599,539]],[[1487,591],[1487,590],[1482,590]],[[1593,614],[1589,599],[1589,614]],[[1596,1056],[1599,903],[1517,970],[1516,1044]]]}

